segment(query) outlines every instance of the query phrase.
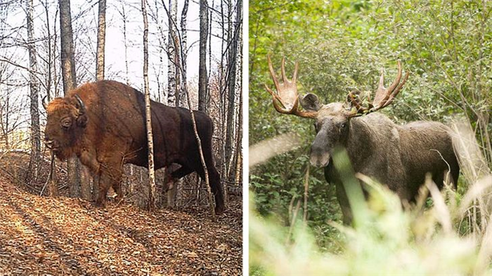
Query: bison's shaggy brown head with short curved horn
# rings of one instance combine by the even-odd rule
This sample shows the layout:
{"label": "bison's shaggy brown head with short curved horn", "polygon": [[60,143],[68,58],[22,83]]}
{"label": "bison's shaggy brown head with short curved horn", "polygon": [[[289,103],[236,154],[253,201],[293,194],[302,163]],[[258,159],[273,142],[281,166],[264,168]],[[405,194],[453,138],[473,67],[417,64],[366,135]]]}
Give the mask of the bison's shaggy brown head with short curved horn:
{"label": "bison's shaggy brown head with short curved horn", "polygon": [[86,107],[78,96],[55,98],[46,109],[44,143],[60,159],[67,159],[87,124]]}

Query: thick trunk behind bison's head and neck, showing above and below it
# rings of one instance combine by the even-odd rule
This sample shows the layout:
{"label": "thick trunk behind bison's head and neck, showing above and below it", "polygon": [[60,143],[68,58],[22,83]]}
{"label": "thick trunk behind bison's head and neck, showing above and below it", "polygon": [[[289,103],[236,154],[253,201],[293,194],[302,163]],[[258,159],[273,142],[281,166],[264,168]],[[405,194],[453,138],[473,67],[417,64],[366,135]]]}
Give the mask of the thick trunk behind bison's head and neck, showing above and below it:
{"label": "thick trunk behind bison's head and neck, showing above and below it", "polygon": [[[63,93],[77,86],[75,78],[74,43],[72,34],[72,15],[70,14],[70,0],[59,0],[60,5],[60,47],[61,69],[63,77]],[[70,197],[79,197],[80,178],[78,174],[78,161],[75,157],[67,160],[68,187]]]}

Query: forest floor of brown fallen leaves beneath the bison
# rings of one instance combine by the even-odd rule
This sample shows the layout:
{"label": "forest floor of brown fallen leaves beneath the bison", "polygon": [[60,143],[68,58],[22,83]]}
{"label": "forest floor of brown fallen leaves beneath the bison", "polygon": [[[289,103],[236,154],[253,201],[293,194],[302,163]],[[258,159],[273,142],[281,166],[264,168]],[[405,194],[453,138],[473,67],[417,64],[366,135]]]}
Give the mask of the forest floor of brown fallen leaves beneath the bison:
{"label": "forest floor of brown fallen leaves beneath the bison", "polygon": [[[4,160],[2,160],[4,161]],[[0,275],[240,275],[242,199],[152,213],[39,197],[0,171]]]}

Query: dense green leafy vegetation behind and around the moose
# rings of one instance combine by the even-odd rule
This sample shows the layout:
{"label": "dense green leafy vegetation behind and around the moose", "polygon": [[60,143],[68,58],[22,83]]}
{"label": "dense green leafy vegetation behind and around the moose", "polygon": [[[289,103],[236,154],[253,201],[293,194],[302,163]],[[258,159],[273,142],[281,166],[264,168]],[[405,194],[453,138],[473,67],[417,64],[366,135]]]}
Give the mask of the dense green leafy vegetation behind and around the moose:
{"label": "dense green leafy vegetation behind and around the moose", "polygon": [[[285,56],[287,75],[297,60],[299,93],[316,93],[325,103],[344,100],[353,88],[375,91],[381,68],[389,82],[401,60],[410,77],[398,100],[382,112],[399,124],[464,118],[490,168],[491,13],[491,1],[250,1],[250,145],[280,133],[302,138],[296,150],[250,168],[259,216],[290,225],[297,200],[303,200],[314,137],[312,121],[273,109],[264,89],[265,83],[271,86],[268,54],[275,68]],[[344,235],[327,223],[342,218],[335,187],[325,182],[322,169],[309,174],[308,225],[318,246],[339,251]],[[461,177],[453,200],[470,185]],[[474,228],[453,226],[461,235]]]}

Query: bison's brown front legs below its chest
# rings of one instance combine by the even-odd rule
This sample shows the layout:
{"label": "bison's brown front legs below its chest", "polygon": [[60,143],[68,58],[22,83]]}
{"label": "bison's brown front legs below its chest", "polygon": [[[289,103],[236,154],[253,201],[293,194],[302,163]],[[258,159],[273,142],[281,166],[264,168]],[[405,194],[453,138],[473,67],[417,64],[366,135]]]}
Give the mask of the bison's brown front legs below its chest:
{"label": "bison's brown front legs below its chest", "polygon": [[99,194],[96,199],[97,206],[104,206],[106,195],[110,187],[115,189],[117,193],[117,201],[122,199],[121,178],[122,178],[122,163],[121,162],[107,162],[101,164],[100,176],[99,176]]}

